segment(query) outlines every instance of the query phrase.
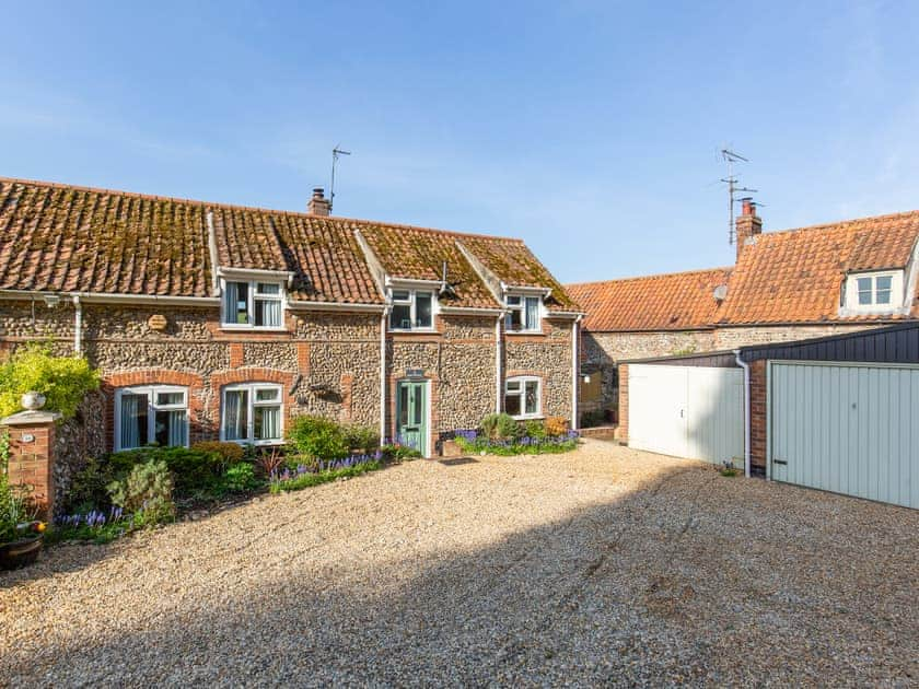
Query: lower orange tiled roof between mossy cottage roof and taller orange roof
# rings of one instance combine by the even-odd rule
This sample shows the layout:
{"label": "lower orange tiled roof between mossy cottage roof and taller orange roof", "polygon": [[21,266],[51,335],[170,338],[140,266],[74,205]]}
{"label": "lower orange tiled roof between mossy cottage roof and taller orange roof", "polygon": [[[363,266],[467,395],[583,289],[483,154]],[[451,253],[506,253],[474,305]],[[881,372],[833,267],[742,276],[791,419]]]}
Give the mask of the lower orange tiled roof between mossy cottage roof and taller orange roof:
{"label": "lower orange tiled roof between mossy cottage roof and taller orange roof", "polygon": [[719,305],[714,289],[729,268],[568,284],[568,293],[588,313],[594,331],[687,330],[703,328]]}

